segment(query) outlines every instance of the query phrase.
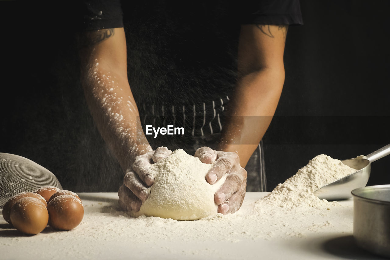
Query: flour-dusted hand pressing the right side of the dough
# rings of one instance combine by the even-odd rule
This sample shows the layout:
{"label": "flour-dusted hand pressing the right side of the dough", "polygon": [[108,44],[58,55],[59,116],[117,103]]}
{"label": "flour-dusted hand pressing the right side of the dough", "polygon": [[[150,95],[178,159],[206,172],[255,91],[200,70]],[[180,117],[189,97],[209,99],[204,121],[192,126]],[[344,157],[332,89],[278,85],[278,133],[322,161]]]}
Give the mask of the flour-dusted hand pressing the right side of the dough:
{"label": "flour-dusted hand pressing the right side of the dough", "polygon": [[209,147],[201,147],[195,152],[201,162],[214,163],[206,175],[208,183],[213,184],[225,173],[229,173],[222,187],[214,195],[218,204],[218,212],[234,213],[242,205],[246,191],[246,170],[239,164],[237,153],[215,151]]}

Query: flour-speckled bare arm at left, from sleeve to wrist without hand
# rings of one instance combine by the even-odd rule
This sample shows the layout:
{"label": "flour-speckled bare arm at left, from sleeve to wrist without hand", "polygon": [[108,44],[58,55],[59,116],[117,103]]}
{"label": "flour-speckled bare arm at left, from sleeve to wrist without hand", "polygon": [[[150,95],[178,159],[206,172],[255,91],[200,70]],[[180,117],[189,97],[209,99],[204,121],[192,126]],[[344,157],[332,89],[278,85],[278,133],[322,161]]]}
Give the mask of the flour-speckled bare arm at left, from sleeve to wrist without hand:
{"label": "flour-speckled bare arm at left, from sleeve to wrist without hand", "polygon": [[[105,142],[126,171],[135,157],[152,151],[137,129],[137,105],[127,78],[123,28],[85,32],[79,37],[85,98]],[[138,117],[139,120],[139,117]],[[142,145],[137,145],[141,137]]]}

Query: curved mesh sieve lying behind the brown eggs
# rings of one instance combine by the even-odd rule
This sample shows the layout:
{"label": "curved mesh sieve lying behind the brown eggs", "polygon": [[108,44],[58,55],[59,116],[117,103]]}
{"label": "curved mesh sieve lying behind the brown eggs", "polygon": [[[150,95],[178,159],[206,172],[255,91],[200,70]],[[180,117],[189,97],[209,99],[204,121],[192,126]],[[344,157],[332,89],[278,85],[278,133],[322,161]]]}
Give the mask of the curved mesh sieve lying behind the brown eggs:
{"label": "curved mesh sieve lying behind the brown eggs", "polygon": [[20,192],[51,185],[62,189],[48,169],[19,155],[0,153],[0,207]]}

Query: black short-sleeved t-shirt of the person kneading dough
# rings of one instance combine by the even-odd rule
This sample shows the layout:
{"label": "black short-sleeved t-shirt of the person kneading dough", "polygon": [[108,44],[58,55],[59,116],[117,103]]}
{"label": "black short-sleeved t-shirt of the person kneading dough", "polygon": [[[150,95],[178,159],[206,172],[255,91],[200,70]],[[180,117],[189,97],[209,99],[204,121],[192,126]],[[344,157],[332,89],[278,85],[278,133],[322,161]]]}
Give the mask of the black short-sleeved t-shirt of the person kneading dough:
{"label": "black short-sleeved t-shirt of the person kneading dough", "polygon": [[[124,27],[128,79],[140,116],[163,115],[161,123],[184,121],[194,136],[210,134],[202,126],[226,111],[236,84],[241,25],[302,23],[298,0],[240,5],[90,1],[84,2],[83,12],[83,30]],[[220,132],[220,122],[213,123],[213,133]]]}

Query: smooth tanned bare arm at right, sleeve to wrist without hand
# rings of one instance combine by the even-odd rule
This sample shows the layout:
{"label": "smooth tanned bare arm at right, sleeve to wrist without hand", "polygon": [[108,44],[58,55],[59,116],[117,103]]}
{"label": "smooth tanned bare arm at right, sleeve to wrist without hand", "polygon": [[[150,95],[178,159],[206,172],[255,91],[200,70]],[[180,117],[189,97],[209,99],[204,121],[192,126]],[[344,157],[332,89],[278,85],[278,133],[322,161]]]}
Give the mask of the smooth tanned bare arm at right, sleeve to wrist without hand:
{"label": "smooth tanned bare arm at right, sleeve to wrist without hand", "polygon": [[239,81],[219,150],[236,152],[246,166],[275,113],[284,84],[287,26],[243,25],[239,38]]}

